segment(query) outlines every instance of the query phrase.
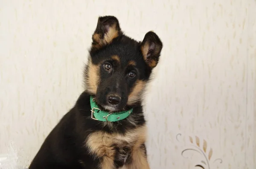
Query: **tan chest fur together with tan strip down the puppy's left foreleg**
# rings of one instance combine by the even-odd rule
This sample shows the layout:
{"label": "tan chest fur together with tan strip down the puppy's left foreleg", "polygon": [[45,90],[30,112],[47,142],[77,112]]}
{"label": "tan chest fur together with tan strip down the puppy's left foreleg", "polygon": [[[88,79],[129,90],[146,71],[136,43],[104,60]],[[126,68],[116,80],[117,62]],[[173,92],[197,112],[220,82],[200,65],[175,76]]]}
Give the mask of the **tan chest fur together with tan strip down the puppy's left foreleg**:
{"label": "tan chest fur together with tan strip down the puppy's left foreleg", "polygon": [[[113,144],[116,146],[130,146],[134,152],[141,144],[145,143],[146,139],[146,126],[140,126],[136,129],[127,131],[124,135],[121,134],[108,134],[106,132],[94,132],[91,133],[87,140],[86,146],[89,148],[90,154],[97,158],[102,158],[101,169],[113,169],[114,168],[114,156],[115,150]],[[134,157],[141,155],[134,152]]]}

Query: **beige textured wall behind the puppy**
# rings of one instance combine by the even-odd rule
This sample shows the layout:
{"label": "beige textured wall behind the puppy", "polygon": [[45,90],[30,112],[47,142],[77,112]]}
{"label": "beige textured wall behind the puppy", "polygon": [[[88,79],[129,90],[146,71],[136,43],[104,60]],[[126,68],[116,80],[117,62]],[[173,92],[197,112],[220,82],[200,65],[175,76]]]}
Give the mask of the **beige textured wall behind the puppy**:
{"label": "beige textured wall behind the puppy", "polygon": [[145,99],[152,169],[256,168],[255,0],[0,1],[0,154],[12,141],[28,166],[74,105],[99,15],[163,40]]}

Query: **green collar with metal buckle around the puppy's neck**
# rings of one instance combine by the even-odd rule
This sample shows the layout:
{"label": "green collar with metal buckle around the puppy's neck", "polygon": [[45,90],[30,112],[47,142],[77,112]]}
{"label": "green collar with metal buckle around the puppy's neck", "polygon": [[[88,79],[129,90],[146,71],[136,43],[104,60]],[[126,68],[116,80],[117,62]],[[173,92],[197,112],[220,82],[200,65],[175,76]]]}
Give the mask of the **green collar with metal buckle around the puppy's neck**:
{"label": "green collar with metal buckle around the puppy's neck", "polygon": [[99,121],[107,121],[107,122],[115,122],[115,121],[123,120],[126,117],[128,117],[133,110],[133,109],[130,109],[128,111],[114,112],[114,113],[104,112],[101,109],[99,109],[98,105],[93,100],[92,96],[90,96],[90,105],[91,105],[92,119],[99,120]]}

